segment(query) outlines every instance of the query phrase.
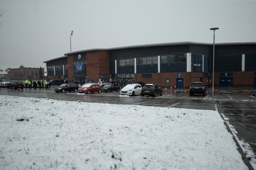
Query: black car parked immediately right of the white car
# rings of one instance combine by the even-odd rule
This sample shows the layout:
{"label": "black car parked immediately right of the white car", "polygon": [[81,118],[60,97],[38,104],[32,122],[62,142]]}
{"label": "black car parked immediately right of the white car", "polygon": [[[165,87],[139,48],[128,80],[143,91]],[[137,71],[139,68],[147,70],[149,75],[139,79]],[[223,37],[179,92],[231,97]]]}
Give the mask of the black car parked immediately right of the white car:
{"label": "black car parked immediately right of the white car", "polygon": [[157,86],[157,84],[145,84],[145,86],[143,86],[143,88],[141,89],[140,95],[141,97],[145,95],[149,95],[152,97],[156,97],[157,95],[162,96],[163,89]]}

